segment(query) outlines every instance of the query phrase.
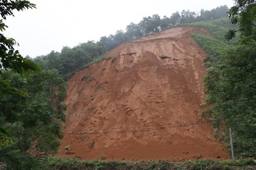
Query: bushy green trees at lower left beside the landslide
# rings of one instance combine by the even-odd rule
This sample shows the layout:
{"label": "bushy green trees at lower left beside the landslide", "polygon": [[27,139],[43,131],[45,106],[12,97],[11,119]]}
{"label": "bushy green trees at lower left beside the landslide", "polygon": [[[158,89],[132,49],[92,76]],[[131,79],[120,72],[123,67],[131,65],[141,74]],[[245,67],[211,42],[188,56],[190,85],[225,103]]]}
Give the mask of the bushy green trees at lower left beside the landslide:
{"label": "bushy green trees at lower left beside the landslide", "polygon": [[0,79],[29,95],[12,93],[0,99],[0,122],[13,139],[12,145],[0,148],[0,162],[9,169],[35,169],[60,145],[67,83],[57,70],[36,72],[27,79],[3,71]]}

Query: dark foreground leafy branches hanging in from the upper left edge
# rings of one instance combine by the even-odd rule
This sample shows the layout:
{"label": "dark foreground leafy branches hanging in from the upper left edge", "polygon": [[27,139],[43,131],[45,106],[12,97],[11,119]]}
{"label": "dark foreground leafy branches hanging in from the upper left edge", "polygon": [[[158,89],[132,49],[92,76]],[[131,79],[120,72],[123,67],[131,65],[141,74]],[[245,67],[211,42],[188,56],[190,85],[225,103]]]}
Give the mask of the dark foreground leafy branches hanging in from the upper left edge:
{"label": "dark foreground leafy branches hanging in from the upper left edge", "polygon": [[[28,8],[35,8],[35,4],[26,0],[2,0],[0,1],[0,31],[3,32],[8,26],[5,25],[3,20],[6,20],[7,16],[12,15],[14,10],[24,10]],[[2,70],[13,70],[19,73],[21,76],[24,74],[29,76],[33,74],[33,71],[42,71],[39,65],[36,65],[28,58],[23,58],[19,54],[18,50],[14,49],[15,45],[19,45],[15,39],[7,38],[0,33],[0,74]],[[0,80],[0,97],[9,95],[10,93],[18,93],[19,95],[26,96],[21,89],[11,87],[7,81]],[[11,142],[8,137],[8,132],[0,126],[0,147]]]}

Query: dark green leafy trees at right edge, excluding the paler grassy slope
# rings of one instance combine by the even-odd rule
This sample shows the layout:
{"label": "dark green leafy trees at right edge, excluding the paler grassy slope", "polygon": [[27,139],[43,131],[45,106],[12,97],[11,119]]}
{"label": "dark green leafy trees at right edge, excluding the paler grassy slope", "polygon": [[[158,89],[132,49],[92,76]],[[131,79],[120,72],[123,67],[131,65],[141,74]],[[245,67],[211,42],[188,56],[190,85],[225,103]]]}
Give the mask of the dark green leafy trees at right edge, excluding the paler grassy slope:
{"label": "dark green leafy trees at right edge, excluding the paler grassy slope", "polygon": [[[205,114],[222,119],[234,131],[237,156],[256,158],[256,3],[235,0],[235,4],[228,14],[233,24],[239,24],[240,43],[226,49],[220,62],[207,70],[206,102],[213,107]],[[231,33],[229,38],[235,36]]]}

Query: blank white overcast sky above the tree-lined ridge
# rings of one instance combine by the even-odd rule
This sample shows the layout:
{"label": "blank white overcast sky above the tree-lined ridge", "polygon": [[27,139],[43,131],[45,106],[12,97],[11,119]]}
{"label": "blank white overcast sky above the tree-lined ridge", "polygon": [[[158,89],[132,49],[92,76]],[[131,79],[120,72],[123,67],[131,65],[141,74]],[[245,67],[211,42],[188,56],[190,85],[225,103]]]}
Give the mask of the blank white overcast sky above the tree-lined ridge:
{"label": "blank white overcast sky above the tree-lined ridge", "polygon": [[15,12],[4,20],[9,26],[3,34],[16,39],[22,56],[36,57],[63,46],[125,31],[131,22],[158,14],[170,17],[184,10],[211,10],[221,5],[234,5],[233,0],[29,0],[36,9]]}

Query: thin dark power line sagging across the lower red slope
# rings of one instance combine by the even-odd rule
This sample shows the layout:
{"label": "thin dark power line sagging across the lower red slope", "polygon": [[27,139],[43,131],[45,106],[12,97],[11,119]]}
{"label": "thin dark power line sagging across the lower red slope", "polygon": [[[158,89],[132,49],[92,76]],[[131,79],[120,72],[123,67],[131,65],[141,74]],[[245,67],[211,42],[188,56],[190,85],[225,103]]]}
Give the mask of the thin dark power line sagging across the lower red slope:
{"label": "thin dark power line sagging across the lower red slope", "polygon": [[[68,133],[65,132],[65,134],[118,134],[118,133],[137,133],[137,132],[145,132],[145,131],[155,131],[155,130],[161,130],[161,129],[170,129],[170,128],[178,128],[183,126],[190,126],[195,124],[201,124],[206,123],[210,121],[201,121],[201,122],[187,122],[187,123],[181,123],[181,124],[170,124],[169,126],[159,127],[159,128],[149,128],[149,129],[133,129],[133,130],[127,130],[127,131],[104,131],[106,129],[101,129],[103,132],[100,131],[94,131],[94,132],[72,132]],[[142,127],[140,127],[142,128]],[[118,128],[117,128],[118,129]]]}

